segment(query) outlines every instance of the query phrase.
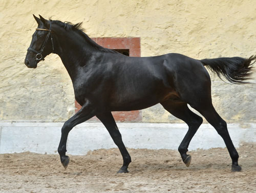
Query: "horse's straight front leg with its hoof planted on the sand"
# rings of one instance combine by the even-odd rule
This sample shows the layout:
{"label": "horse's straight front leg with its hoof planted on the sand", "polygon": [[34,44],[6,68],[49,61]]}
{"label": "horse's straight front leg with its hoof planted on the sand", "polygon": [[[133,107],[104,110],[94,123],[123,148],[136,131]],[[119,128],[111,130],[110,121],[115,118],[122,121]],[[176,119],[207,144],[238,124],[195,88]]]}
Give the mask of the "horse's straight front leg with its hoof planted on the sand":
{"label": "horse's straight front leg with its hoof planted on the sand", "polygon": [[103,125],[106,127],[106,129],[110,133],[110,136],[112,137],[114,143],[119,148],[119,151],[123,157],[123,165],[117,173],[128,173],[128,170],[127,170],[128,165],[132,162],[131,156],[129,155],[129,153],[127,152],[127,149],[123,144],[121,134],[118,130],[118,127],[116,125],[116,122],[112,113],[106,112],[96,116],[103,123]]}

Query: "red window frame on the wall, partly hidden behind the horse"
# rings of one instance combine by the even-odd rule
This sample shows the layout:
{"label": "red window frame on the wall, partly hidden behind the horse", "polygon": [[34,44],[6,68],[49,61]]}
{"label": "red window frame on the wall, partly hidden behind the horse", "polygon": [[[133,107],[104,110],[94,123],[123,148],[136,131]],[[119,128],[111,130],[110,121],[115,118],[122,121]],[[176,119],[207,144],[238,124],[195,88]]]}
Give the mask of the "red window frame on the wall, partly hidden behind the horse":
{"label": "red window frame on the wall, partly hidden behind the horse", "polygon": [[[114,50],[129,50],[129,56],[140,57],[140,38],[139,37],[94,37],[92,38],[98,45],[114,49]],[[75,101],[75,112],[81,106]],[[118,122],[140,122],[140,111],[121,111],[112,112],[114,118]],[[98,120],[96,117],[92,121]]]}

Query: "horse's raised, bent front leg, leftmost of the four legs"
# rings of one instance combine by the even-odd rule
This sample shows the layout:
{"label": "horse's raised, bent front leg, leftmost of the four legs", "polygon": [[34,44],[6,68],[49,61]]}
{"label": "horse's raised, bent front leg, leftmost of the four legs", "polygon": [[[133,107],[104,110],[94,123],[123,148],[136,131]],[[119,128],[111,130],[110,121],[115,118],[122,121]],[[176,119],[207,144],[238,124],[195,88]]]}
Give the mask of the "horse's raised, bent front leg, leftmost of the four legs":
{"label": "horse's raised, bent front leg, leftmost of the four legs", "polygon": [[66,121],[61,128],[61,138],[58,146],[58,153],[60,156],[60,161],[64,168],[66,169],[69,164],[69,157],[66,156],[67,152],[67,139],[69,132],[72,130],[74,126],[80,124],[84,121],[95,116],[95,110],[92,108],[92,105],[89,101],[87,101],[82,108],[68,121]]}

